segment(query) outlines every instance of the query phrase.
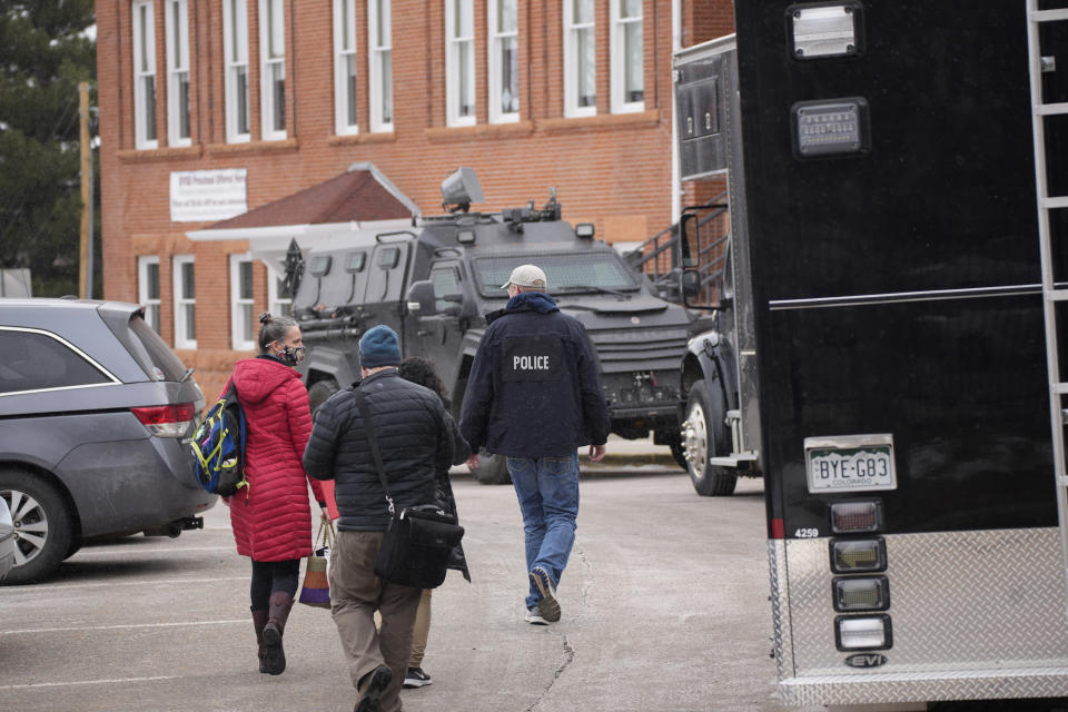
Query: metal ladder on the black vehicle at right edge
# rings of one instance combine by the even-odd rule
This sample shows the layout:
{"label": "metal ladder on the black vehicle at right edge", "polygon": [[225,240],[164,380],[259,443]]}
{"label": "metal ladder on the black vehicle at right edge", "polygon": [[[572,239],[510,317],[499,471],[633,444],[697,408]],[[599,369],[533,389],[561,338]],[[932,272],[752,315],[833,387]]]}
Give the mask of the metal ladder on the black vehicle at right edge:
{"label": "metal ladder on the black vehicle at right edge", "polygon": [[[1045,103],[1042,96],[1042,58],[1039,28],[1044,22],[1068,21],[1068,9],[1039,10],[1039,0],[1027,0],[1028,73],[1031,88],[1031,128],[1035,141],[1035,187],[1038,207],[1039,255],[1042,268],[1042,310],[1046,323],[1046,366],[1049,373],[1049,409],[1056,475],[1057,517],[1060,528],[1061,567],[1068,591],[1068,473],[1065,463],[1065,426],[1068,411],[1062,399],[1068,383],[1060,380],[1060,356],[1057,342],[1057,304],[1068,300],[1068,289],[1057,288],[1054,274],[1054,250],[1050,235],[1050,210],[1068,208],[1068,196],[1049,195],[1046,169],[1046,122],[1048,116],[1068,115],[1068,102]],[[1066,595],[1068,601],[1068,595]],[[1068,610],[1066,610],[1068,615]]]}

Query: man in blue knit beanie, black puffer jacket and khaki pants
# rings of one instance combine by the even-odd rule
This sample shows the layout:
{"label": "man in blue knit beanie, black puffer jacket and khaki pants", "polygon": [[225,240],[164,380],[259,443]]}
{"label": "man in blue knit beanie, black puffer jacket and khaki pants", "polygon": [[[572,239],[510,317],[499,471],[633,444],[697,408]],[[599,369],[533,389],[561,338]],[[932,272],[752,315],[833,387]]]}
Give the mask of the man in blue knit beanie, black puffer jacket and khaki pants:
{"label": "man in blue knit beanie, black puffer jacket and khaki pants", "polygon": [[[442,399],[397,374],[400,347],[388,326],[359,339],[364,394],[397,512],[434,502],[435,473],[453,462],[453,437]],[[367,443],[353,388],[315,413],[304,453],[309,477],[335,479],[340,518],[330,552],[330,605],[358,698],[356,712],[397,712],[412,654],[412,627],[422,591],[375,575],[389,505]],[[382,614],[382,631],[374,613]]]}

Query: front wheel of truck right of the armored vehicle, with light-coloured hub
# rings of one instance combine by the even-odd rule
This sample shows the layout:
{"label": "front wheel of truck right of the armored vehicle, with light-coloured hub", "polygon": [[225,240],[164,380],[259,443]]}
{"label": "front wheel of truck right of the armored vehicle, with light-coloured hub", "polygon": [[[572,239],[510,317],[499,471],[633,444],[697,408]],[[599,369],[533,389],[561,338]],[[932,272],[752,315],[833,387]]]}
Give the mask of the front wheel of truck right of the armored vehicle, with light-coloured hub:
{"label": "front wheel of truck right of the armored vehicle, with light-coloured hub", "polygon": [[693,488],[703,497],[723,497],[734,493],[738,475],[734,469],[709,464],[710,457],[731,454],[731,436],[726,427],[726,404],[719,388],[709,388],[699,380],[686,398],[686,418],[682,424],[682,445],[686,471]]}

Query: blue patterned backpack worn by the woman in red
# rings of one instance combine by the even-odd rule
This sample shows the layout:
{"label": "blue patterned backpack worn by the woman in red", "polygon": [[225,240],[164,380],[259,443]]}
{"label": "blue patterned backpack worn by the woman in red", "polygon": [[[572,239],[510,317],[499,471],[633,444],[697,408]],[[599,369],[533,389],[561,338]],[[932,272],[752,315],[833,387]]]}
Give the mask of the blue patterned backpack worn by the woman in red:
{"label": "blue patterned backpack worn by the woman in red", "polygon": [[245,412],[230,387],[211,406],[192,434],[197,482],[211,494],[229,496],[245,487]]}

